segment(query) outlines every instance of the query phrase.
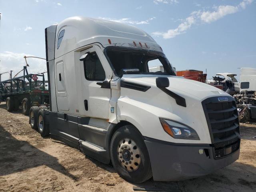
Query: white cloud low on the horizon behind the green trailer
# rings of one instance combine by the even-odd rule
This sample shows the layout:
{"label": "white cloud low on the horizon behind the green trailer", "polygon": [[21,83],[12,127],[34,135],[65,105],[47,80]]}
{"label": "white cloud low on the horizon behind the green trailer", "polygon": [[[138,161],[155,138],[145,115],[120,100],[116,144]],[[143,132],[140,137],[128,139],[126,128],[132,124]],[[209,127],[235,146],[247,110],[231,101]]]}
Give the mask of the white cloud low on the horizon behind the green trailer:
{"label": "white cloud low on the horizon behind the green trailer", "polygon": [[[30,54],[25,53],[13,53],[13,52],[2,52],[0,53],[0,73],[2,72],[9,72],[13,70],[13,76],[22,70],[23,66],[26,65],[24,56],[33,56]],[[29,67],[28,72],[33,74],[38,74],[40,72],[46,71],[46,61],[42,59],[36,58],[27,58]],[[23,74],[20,73],[18,76],[22,76]],[[9,74],[3,74],[2,80],[9,79]]]}

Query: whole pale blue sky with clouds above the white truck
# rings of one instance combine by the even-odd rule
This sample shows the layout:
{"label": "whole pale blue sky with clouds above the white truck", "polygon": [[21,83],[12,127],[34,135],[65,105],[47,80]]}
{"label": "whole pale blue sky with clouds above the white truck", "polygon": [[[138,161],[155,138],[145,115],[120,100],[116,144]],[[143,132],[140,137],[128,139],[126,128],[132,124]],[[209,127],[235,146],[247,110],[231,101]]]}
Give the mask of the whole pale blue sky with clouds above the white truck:
{"label": "whole pale blue sky with clouds above the white truck", "polygon": [[[44,28],[70,16],[107,18],[145,30],[176,70],[207,69],[210,78],[256,68],[254,0],[0,0],[0,12],[0,73],[22,69],[25,54],[45,58]],[[46,70],[43,60],[29,64],[29,72]]]}

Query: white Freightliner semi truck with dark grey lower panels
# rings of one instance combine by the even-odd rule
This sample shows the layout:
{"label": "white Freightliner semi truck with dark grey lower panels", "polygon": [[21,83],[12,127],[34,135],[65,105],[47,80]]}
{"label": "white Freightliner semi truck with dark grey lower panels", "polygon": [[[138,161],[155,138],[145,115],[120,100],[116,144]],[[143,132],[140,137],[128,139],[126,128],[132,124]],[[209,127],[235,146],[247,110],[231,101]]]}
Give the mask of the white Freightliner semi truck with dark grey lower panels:
{"label": "white Freightliner semi truck with dark grey lower panels", "polygon": [[[30,124],[105,164],[132,183],[176,181],[236,161],[234,98],[175,76],[162,48],[126,24],[68,18],[45,29],[50,110]],[[164,72],[150,72],[159,60]]]}

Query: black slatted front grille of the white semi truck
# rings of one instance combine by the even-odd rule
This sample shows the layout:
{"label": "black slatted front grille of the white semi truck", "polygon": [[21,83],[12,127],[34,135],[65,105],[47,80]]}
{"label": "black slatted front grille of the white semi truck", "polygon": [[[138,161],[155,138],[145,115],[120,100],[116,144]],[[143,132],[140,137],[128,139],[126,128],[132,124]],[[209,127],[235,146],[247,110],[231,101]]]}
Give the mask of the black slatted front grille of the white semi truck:
{"label": "black slatted front grille of the white semi truck", "polygon": [[208,98],[202,102],[212,144],[214,158],[232,154],[240,147],[240,128],[238,112],[234,98],[218,101],[218,97]]}

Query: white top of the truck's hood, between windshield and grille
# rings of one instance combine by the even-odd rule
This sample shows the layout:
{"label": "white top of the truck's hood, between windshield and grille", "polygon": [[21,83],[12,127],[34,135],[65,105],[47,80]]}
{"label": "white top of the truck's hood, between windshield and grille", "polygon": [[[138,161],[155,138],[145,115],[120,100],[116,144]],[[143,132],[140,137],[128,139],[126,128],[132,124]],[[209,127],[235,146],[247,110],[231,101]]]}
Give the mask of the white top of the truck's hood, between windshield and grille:
{"label": "white top of the truck's hood, between windshield and grille", "polygon": [[167,89],[176,94],[181,94],[181,96],[193,96],[197,100],[204,100],[210,96],[229,96],[229,94],[214,86],[178,76],[126,74],[122,76],[121,80],[152,87],[156,86],[156,78],[158,77],[167,77],[170,82]]}

